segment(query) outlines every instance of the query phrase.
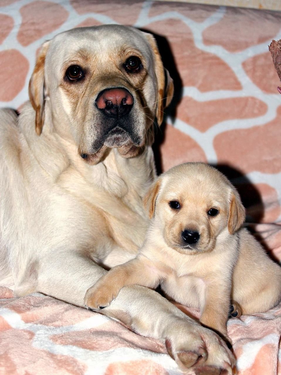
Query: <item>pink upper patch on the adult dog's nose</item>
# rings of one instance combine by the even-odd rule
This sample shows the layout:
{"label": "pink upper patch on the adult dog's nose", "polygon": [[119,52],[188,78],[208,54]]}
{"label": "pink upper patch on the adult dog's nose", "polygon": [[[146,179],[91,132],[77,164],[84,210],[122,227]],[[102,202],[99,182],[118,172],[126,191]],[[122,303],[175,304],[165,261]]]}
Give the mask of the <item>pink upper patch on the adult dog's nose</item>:
{"label": "pink upper patch on the adult dog's nose", "polygon": [[120,107],[121,105],[133,105],[133,96],[125,89],[108,89],[104,90],[97,98],[97,107],[100,110],[113,105]]}

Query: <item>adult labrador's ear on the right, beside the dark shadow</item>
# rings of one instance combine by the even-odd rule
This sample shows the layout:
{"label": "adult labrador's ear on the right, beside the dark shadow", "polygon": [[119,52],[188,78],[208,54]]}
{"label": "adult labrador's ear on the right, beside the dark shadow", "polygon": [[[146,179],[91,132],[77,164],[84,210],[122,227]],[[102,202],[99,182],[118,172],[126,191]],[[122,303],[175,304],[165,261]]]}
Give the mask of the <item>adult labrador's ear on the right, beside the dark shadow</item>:
{"label": "adult labrador's ear on the right, beside the dark shadow", "polygon": [[145,33],[145,37],[147,38],[148,42],[150,43],[151,49],[154,52],[155,74],[158,84],[156,118],[157,123],[160,126],[163,121],[164,108],[168,107],[174,95],[174,82],[170,77],[167,69],[165,69],[163,66],[159,49],[153,35]]}

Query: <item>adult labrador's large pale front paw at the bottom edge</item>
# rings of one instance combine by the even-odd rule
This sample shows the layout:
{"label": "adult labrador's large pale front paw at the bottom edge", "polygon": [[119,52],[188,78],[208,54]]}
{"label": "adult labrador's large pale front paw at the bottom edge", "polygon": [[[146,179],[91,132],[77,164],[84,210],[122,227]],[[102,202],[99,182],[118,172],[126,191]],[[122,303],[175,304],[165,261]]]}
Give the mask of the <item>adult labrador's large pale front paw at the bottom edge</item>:
{"label": "adult labrador's large pale front paw at the bottom edge", "polygon": [[195,322],[170,327],[166,348],[170,356],[186,373],[196,375],[236,374],[235,358],[224,340],[215,332]]}

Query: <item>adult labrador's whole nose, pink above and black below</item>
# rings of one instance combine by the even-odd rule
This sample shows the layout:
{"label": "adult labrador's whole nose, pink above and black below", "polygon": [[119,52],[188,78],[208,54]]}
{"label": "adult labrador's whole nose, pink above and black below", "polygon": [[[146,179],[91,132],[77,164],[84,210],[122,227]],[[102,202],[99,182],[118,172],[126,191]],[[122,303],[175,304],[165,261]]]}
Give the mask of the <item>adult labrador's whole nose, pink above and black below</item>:
{"label": "adult labrador's whole nose, pink above and black below", "polygon": [[118,119],[131,111],[134,98],[127,89],[122,87],[106,89],[98,94],[96,105],[106,116]]}

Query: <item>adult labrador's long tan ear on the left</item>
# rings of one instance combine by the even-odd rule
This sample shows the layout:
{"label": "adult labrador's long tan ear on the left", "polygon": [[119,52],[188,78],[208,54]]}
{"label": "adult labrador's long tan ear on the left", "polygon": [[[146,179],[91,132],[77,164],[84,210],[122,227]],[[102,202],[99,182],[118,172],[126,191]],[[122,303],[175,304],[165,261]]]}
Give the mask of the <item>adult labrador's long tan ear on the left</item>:
{"label": "adult labrador's long tan ear on the left", "polygon": [[45,42],[36,60],[35,68],[29,81],[29,99],[34,108],[35,131],[37,135],[42,132],[44,124],[44,84],[45,84],[45,57],[48,51],[49,42]]}

